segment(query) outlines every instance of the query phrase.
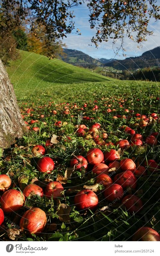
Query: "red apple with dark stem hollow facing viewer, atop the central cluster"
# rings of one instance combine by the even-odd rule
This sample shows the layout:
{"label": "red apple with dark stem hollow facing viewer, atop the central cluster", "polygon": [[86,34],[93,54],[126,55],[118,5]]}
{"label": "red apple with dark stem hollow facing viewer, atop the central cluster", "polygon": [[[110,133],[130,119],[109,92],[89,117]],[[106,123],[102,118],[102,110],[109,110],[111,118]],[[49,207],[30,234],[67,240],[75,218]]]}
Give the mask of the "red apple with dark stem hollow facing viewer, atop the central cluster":
{"label": "red apple with dark stem hollow facing viewer, atop the central cluster", "polygon": [[92,165],[104,160],[103,152],[99,148],[91,148],[86,155],[88,162]]}

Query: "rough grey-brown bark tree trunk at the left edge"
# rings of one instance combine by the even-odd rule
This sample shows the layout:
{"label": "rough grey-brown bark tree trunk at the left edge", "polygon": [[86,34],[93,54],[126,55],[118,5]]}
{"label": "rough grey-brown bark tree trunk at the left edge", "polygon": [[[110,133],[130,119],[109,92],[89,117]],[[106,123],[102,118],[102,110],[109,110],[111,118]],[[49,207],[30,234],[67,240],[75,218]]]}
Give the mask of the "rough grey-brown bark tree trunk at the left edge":
{"label": "rough grey-brown bark tree trunk at the left edge", "polygon": [[20,109],[13,85],[0,60],[0,148],[8,148],[16,138],[23,136],[26,126],[20,115]]}

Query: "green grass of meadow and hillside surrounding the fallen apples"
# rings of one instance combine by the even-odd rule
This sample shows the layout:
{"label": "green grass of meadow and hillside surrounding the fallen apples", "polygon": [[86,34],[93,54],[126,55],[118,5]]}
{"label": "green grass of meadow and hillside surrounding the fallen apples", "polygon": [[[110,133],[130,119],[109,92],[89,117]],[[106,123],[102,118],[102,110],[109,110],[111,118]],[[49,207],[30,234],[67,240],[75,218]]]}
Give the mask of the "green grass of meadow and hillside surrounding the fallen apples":
{"label": "green grass of meadow and hillside surrounding the fallen apples", "polygon": [[[130,126],[136,133],[142,134],[143,146],[125,149],[120,159],[127,157],[133,159],[137,165],[143,166],[146,166],[146,159],[154,159],[160,163],[160,136],[157,137],[157,145],[150,146],[145,143],[148,135],[159,132],[158,120],[151,120],[145,128],[134,125],[139,122],[136,113],[146,116],[152,112],[159,113],[160,83],[115,79],[109,81],[105,77],[89,73],[86,69],[29,52],[21,52],[20,59],[11,62],[7,69],[14,84],[21,114],[31,129],[17,141],[15,147],[5,150],[4,153],[2,150],[0,152],[0,174],[7,173],[14,188],[23,190],[22,186],[37,178],[38,185],[45,191],[44,180],[50,178],[55,181],[58,175],[64,177],[73,154],[86,157],[88,150],[93,147],[98,147],[103,152],[110,151],[111,148],[118,150],[116,145],[101,146],[95,144],[94,138],[86,140],[77,136],[75,125],[80,123],[88,128],[94,123],[100,123],[98,135],[102,137],[105,131],[108,134],[106,142],[114,144],[119,139],[130,141],[131,137],[123,131],[122,125]],[[64,102],[69,103],[68,115],[64,112]],[[77,108],[74,108],[75,103]],[[84,103],[87,103],[87,107],[82,111]],[[93,110],[95,104],[98,105],[98,110]],[[113,111],[107,112],[108,108]],[[125,109],[129,112],[125,112]],[[57,111],[56,115],[52,114],[53,110]],[[80,118],[82,113],[83,116],[90,117],[89,121]],[[116,114],[120,117],[113,119]],[[121,115],[126,115],[127,118],[121,118]],[[36,120],[36,123],[30,124],[31,119]],[[55,125],[57,121],[62,121],[62,126]],[[34,132],[33,127],[38,127],[39,131]],[[85,132],[87,135],[88,130]],[[53,147],[45,147],[46,140],[51,138],[52,134],[59,136],[59,142]],[[35,156],[31,151],[32,145],[35,144],[43,145],[46,149],[45,156],[50,156],[55,162],[55,169],[51,174],[38,172],[37,162],[41,156]],[[92,211],[81,212],[74,206],[74,196],[84,185],[96,183],[96,174],[92,172],[92,168],[93,166],[88,165],[85,175],[84,170],[74,170],[65,181],[66,184],[63,184],[65,197],[62,196],[60,201],[71,207],[69,215],[66,214],[71,219],[70,223],[66,219],[59,219],[56,201],[34,195],[26,199],[25,207],[18,213],[6,214],[3,223],[5,230],[19,227],[17,214],[22,216],[29,207],[34,206],[45,211],[48,226],[44,233],[38,236],[20,231],[16,241],[131,241],[134,232],[142,226],[160,231],[158,172],[151,172],[146,166],[147,175],[137,176],[137,187],[132,190],[132,194],[136,194],[143,201],[144,207],[139,213],[129,213],[120,200],[116,201],[116,204],[107,201],[102,192],[102,185],[96,192],[98,207]],[[114,175],[111,174],[111,178]],[[49,230],[48,227],[53,223],[57,225],[56,230]],[[0,230],[0,237],[8,241],[4,229]]]}

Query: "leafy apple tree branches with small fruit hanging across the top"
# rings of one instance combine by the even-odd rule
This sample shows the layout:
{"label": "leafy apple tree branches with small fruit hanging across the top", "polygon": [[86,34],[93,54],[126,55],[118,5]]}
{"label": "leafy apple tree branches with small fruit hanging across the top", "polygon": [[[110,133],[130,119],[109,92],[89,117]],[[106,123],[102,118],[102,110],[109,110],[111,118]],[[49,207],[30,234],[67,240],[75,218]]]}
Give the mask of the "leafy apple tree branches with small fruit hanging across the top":
{"label": "leafy apple tree branches with small fruit hanging across the top", "polygon": [[[1,12],[5,13],[3,25],[16,27],[27,20],[30,29],[35,33],[40,26],[44,28],[46,43],[66,37],[75,28],[75,6],[81,5],[80,0],[1,0]],[[151,35],[148,24],[150,18],[160,19],[159,6],[156,0],[92,0],[87,1],[89,8],[89,22],[91,29],[96,28],[91,41],[98,47],[98,43],[107,42],[109,38],[121,41],[123,48],[124,36],[140,43]],[[13,21],[14,18],[14,21]],[[2,27],[1,27],[2,29]],[[80,34],[80,30],[77,29]]]}

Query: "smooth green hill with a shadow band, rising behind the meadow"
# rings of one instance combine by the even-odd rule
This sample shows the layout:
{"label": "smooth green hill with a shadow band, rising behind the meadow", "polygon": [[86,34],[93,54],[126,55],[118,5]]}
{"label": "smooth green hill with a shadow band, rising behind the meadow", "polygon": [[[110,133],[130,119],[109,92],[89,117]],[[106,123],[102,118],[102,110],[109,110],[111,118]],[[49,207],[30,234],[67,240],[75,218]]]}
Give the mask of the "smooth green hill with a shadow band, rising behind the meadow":
{"label": "smooth green hill with a shadow band, rising behind the meadow", "polygon": [[[82,84],[113,81],[84,68],[75,67],[62,60],[49,60],[46,56],[20,51],[19,59],[7,67],[17,98],[41,93],[50,95],[62,90],[65,84]],[[76,85],[75,85],[76,86]]]}

